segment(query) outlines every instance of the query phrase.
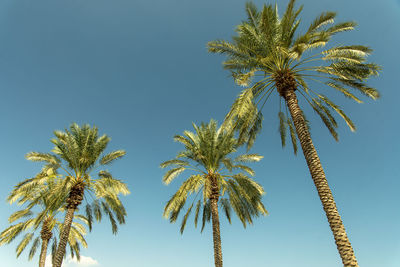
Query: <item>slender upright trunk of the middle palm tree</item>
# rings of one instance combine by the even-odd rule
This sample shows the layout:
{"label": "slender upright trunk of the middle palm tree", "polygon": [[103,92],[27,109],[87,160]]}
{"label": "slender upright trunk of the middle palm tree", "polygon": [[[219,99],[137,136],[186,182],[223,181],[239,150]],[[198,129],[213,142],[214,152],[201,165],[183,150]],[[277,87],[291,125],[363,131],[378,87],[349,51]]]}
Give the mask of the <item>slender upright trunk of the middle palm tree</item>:
{"label": "slender upright trunk of the middle palm tree", "polygon": [[214,242],[214,262],[215,267],[222,267],[222,249],[221,249],[221,232],[219,227],[219,215],[218,215],[218,199],[219,189],[215,175],[211,177],[211,218],[213,227],[213,242]]}

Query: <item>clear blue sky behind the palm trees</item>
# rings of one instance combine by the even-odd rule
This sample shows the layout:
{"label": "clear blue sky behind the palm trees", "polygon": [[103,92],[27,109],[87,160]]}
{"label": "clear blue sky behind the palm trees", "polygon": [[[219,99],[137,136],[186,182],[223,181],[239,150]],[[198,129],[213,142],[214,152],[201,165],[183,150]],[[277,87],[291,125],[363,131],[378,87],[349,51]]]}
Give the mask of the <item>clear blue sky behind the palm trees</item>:
{"label": "clear blue sky behind the palm trees", "polygon": [[[279,10],[287,0],[277,1]],[[265,2],[254,2],[258,7]],[[339,142],[305,108],[312,138],[360,266],[400,266],[400,1],[303,0],[302,26],[321,12],[354,20],[356,30],[333,43],[363,44],[368,58],[383,67],[368,83],[381,92],[363,104],[328,92],[351,115]],[[192,122],[221,122],[242,89],[222,68],[223,56],[209,54],[208,41],[230,40],[245,20],[243,0],[2,0],[0,2],[0,229],[17,206],[6,197],[13,186],[40,170],[30,151],[49,152],[54,130],[72,122],[96,125],[112,140],[108,151],[127,155],[109,167],[131,194],[122,197],[125,225],[117,235],[109,222],[94,225],[82,248],[83,260],[64,267],[213,266],[211,225],[200,233],[189,218],[183,235],[178,223],[162,217],[169,197],[185,175],[165,186],[159,164],[182,147],[175,134]],[[321,89],[326,90],[326,88]],[[281,148],[277,101],[264,111],[263,131],[253,149],[264,159],[252,167],[265,189],[269,215],[243,228],[221,218],[224,265],[336,267],[341,260],[301,153]],[[27,267],[17,242],[0,247],[1,265]]]}

